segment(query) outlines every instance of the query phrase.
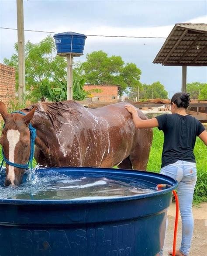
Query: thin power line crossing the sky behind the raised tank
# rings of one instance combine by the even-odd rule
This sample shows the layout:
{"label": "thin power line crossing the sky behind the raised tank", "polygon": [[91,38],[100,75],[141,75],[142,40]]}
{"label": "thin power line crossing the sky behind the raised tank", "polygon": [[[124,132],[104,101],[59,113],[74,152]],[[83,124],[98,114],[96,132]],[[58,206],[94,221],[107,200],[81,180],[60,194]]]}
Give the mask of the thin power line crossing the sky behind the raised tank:
{"label": "thin power line crossing the sky behind the raised tank", "polygon": [[[17,30],[17,28],[3,28],[3,27],[0,27],[0,29]],[[52,32],[52,31],[40,31],[40,30],[31,30],[31,29],[24,29],[24,31],[50,33],[50,34],[58,34],[59,33],[59,32]],[[86,35],[86,36],[113,37],[113,38],[154,38],[154,39],[168,39],[169,38],[169,37],[127,36],[127,35]],[[177,37],[170,37],[170,39],[179,39],[179,38],[177,38]]]}

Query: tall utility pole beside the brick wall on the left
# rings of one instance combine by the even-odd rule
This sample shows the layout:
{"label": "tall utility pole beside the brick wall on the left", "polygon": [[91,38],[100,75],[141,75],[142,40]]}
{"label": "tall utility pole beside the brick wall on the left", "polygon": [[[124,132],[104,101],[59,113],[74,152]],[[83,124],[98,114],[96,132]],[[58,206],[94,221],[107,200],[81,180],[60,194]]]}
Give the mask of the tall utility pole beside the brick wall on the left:
{"label": "tall utility pole beside the brick wall on the left", "polygon": [[24,59],[24,7],[23,0],[17,0],[17,34],[19,59],[19,104],[25,102],[25,59]]}

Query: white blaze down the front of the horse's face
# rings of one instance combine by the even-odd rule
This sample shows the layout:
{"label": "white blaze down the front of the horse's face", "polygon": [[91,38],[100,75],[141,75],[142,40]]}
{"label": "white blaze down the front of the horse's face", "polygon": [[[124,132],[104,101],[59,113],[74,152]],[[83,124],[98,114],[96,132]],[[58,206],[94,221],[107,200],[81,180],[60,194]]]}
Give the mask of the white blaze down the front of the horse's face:
{"label": "white blaze down the front of the horse's face", "polygon": [[[7,140],[9,142],[9,161],[14,163],[14,150],[19,142],[20,132],[18,130],[8,130],[7,131]],[[7,174],[7,178],[10,179],[11,184],[14,185],[14,166],[9,165],[9,170]]]}

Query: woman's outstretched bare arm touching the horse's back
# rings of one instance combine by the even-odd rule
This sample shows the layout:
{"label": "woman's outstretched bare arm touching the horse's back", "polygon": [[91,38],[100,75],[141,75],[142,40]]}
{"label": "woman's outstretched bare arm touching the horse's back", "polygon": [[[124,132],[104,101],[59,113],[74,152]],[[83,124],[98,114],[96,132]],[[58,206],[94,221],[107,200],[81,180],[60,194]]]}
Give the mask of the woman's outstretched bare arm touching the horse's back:
{"label": "woman's outstretched bare arm touching the horse's back", "polygon": [[137,109],[132,105],[125,105],[125,108],[132,114],[132,118],[136,128],[153,128],[158,127],[158,121],[156,118],[142,120],[137,113]]}

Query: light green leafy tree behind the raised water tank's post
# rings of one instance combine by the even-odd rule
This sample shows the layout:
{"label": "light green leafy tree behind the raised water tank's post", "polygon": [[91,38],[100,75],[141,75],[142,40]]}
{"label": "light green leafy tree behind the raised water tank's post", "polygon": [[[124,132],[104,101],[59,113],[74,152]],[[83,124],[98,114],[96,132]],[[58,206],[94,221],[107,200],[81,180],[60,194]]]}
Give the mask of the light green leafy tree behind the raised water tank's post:
{"label": "light green leafy tree behind the raised water tank's post", "polygon": [[[14,45],[18,52],[17,43]],[[18,88],[18,55],[4,59],[6,65],[16,68],[16,89]],[[55,42],[48,36],[38,44],[25,44],[25,79],[27,98],[51,101],[67,100],[67,62],[65,58],[56,55]],[[73,99],[84,100],[93,92],[101,90],[84,90],[85,84],[83,63],[73,63]]]}

